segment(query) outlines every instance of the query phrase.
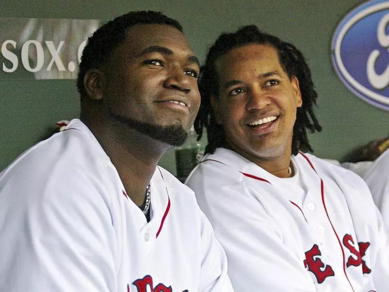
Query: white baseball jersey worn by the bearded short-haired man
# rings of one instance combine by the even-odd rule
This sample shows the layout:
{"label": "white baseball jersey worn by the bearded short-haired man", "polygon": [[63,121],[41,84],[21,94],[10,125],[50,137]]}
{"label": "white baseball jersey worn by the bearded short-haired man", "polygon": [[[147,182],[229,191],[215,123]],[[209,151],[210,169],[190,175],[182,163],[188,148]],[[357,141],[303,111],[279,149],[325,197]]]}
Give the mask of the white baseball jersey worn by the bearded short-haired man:
{"label": "white baseball jersey worn by the bearded short-haired man", "polygon": [[151,220],[72,120],[0,175],[1,292],[232,291],[193,192],[157,167]]}

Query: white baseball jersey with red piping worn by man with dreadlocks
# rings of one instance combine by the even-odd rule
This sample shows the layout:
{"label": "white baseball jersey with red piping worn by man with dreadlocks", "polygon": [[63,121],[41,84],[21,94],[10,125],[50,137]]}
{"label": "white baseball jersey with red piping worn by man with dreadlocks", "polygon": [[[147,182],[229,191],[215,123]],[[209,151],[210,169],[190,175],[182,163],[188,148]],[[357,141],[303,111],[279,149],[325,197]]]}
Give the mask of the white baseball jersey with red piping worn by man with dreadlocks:
{"label": "white baseball jersey with red piping worn by man with dreadlocks", "polygon": [[300,182],[217,148],[188,177],[235,291],[386,292],[389,243],[364,181],[313,155]]}

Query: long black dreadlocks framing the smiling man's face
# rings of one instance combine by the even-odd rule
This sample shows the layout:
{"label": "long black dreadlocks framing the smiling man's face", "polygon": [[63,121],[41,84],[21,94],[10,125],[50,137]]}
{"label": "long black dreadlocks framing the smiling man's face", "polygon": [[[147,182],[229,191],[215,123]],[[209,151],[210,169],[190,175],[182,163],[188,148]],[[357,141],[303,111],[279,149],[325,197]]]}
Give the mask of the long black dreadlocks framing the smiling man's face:
{"label": "long black dreadlocks framing the smiling man's face", "polygon": [[225,147],[223,127],[216,122],[211,106],[211,96],[217,97],[219,92],[218,77],[215,69],[216,60],[230,50],[249,44],[269,45],[277,50],[278,57],[289,79],[296,76],[299,80],[302,106],[297,108],[296,122],[293,127],[292,153],[297,155],[299,150],[313,152],[309,144],[307,131],[321,131],[321,126],[313,111],[318,93],[314,90],[311,71],[301,52],[292,44],[287,43],[258,30],[255,25],[240,28],[236,33],[222,34],[208,52],[205,65],[200,69],[198,86],[201,94],[200,110],[195,119],[195,131],[198,140],[207,129],[208,145],[205,153],[213,153],[217,147]]}

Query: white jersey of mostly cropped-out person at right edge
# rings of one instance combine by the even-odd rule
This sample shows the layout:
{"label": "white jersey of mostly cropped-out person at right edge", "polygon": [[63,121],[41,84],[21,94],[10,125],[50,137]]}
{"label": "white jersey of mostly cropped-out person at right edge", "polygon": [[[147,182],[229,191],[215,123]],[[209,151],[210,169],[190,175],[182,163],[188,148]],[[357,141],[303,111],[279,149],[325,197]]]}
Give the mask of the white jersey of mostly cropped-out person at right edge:
{"label": "white jersey of mostly cropped-out person at right edge", "polygon": [[382,153],[363,176],[373,201],[381,211],[389,234],[389,149]]}

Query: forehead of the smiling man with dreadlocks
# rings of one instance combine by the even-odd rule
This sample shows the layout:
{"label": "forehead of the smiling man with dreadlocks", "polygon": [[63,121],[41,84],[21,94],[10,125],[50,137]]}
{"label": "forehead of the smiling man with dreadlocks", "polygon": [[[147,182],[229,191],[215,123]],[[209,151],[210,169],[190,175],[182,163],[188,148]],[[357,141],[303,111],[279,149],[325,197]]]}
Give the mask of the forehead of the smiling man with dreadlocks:
{"label": "forehead of the smiling man with dreadlocks", "polygon": [[219,79],[251,76],[253,73],[284,72],[277,50],[269,45],[249,44],[234,48],[215,62]]}

